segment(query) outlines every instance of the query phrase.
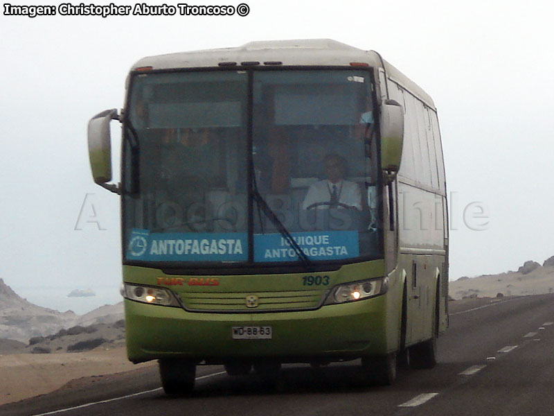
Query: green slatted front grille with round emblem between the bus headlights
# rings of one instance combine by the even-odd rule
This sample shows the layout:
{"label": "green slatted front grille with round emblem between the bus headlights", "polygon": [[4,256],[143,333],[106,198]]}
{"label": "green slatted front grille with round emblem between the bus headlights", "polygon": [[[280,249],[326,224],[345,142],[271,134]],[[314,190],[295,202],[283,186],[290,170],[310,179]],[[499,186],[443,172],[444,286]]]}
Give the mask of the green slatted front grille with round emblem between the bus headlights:
{"label": "green slatted front grille with round emblem between the bus headlights", "polygon": [[[257,313],[318,309],[328,291],[179,293],[187,311],[219,313]],[[258,297],[258,306],[248,307],[247,297]]]}

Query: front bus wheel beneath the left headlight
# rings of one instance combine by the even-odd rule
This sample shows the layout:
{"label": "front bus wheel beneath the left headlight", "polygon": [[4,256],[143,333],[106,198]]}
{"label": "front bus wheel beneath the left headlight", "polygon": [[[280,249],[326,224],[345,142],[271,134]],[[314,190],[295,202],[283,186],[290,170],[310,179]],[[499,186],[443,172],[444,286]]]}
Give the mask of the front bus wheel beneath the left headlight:
{"label": "front bus wheel beneath the left headlight", "polygon": [[161,385],[167,395],[188,395],[195,388],[196,363],[188,360],[159,360]]}

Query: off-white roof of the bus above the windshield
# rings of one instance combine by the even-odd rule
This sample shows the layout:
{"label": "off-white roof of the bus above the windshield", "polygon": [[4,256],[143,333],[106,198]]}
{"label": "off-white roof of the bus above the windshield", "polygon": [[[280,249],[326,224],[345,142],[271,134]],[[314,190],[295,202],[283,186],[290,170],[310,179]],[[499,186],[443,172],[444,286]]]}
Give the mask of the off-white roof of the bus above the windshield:
{"label": "off-white roof of the bus above the windshield", "polygon": [[[432,108],[431,97],[398,69],[382,59],[375,51],[364,51],[330,39],[271,40],[249,42],[236,48],[206,49],[202,51],[169,53],[149,56],[133,65],[137,68],[186,69],[217,68],[229,65],[260,67],[281,66],[337,66],[350,67],[351,62],[364,62],[375,69],[384,68],[388,78],[403,85]],[[276,64],[276,62],[279,62]],[[258,66],[256,65],[256,66]]]}

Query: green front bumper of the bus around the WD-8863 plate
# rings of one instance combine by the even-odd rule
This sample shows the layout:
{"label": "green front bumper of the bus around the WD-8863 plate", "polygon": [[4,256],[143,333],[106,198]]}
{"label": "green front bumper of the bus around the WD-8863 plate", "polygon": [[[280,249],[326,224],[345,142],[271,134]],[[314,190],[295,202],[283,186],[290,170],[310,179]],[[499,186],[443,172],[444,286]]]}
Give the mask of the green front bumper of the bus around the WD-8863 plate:
{"label": "green front bumper of the bus around the WD-8863 plate", "polygon": [[[386,354],[386,295],[322,306],[315,311],[199,313],[125,300],[127,354],[135,363],[190,358],[283,362],[331,361]],[[233,340],[232,327],[266,326],[271,340]]]}

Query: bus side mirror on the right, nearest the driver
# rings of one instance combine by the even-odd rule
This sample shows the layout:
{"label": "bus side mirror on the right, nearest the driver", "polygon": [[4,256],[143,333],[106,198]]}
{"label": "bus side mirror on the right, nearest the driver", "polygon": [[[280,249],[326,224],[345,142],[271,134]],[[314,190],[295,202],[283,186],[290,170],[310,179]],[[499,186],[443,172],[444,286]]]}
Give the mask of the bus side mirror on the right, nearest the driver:
{"label": "bus side mirror on the right, nearest the driver", "polygon": [[400,169],[404,144],[404,110],[394,100],[381,106],[381,166],[389,180],[394,180]]}

